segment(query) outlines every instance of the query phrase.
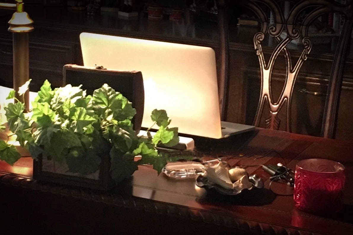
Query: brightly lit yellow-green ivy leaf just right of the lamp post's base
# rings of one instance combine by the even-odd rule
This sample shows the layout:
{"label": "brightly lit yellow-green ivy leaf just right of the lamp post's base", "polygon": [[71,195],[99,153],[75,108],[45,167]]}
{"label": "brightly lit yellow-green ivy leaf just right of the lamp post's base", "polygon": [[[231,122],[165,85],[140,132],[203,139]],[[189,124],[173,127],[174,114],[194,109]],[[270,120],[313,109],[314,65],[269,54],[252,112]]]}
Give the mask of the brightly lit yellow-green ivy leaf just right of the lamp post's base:
{"label": "brightly lit yellow-green ivy leaf just right of the lamp post's base", "polygon": [[38,126],[49,126],[53,123],[55,118],[55,113],[50,109],[48,103],[38,103],[32,102],[33,115],[32,120],[34,120]]}

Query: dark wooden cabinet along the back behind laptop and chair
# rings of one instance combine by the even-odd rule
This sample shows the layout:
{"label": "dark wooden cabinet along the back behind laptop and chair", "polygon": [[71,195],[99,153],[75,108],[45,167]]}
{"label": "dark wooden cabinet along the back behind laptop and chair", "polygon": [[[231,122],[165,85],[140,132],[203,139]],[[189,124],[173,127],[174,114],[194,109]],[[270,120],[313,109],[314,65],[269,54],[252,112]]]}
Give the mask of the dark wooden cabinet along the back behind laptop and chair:
{"label": "dark wooden cabinet along the back behind laptop and chair", "polygon": [[[64,64],[83,64],[79,34],[81,32],[136,37],[212,47],[219,63],[219,31],[217,15],[185,10],[183,21],[164,18],[148,20],[141,12],[136,19],[119,19],[111,12],[89,17],[85,11],[67,7],[43,7],[29,5],[26,11],[34,20],[35,30],[30,32],[30,78],[31,90],[37,91],[48,79],[53,87],[61,86]],[[3,12],[3,13],[2,13]],[[0,83],[12,86],[12,35],[7,32],[11,12],[0,11]],[[259,97],[259,63],[253,46],[256,27],[239,27],[238,11],[228,12],[229,23],[229,94],[226,120],[252,124]],[[269,56],[275,47],[267,42],[263,50]],[[332,46],[332,47],[331,47]],[[347,57],[340,99],[336,138],[353,139],[353,49]],[[334,43],[313,46],[311,54],[300,70],[293,92],[292,131],[299,134],[319,136],[326,99],[328,79],[333,63]],[[300,51],[293,45],[294,61]],[[279,60],[275,64],[274,95],[281,92],[285,66]],[[217,68],[220,69],[219,66]],[[283,119],[285,122],[285,119]],[[284,124],[284,123],[283,123]]]}

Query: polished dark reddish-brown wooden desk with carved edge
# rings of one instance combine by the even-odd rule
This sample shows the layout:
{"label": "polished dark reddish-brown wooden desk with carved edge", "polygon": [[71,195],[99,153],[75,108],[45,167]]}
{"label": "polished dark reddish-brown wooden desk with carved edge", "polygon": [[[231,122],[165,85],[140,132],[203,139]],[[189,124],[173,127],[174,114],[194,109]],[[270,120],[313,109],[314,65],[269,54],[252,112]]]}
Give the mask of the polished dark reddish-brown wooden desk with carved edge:
{"label": "polished dark reddish-brown wooden desk with carved edge", "polygon": [[[259,175],[265,181],[265,188],[244,191],[237,196],[206,191],[195,186],[193,180],[173,181],[163,174],[157,176],[150,166],[140,166],[130,180],[112,192],[0,174],[1,211],[7,215],[7,224],[51,234],[70,231],[76,234],[99,231],[201,234],[201,230],[207,234],[353,233],[352,142],[260,128],[223,140],[196,139],[195,142],[197,155],[232,157],[231,165],[285,161],[294,169],[298,161],[306,158],[339,161],[347,172],[344,209],[330,217],[295,209],[293,196],[279,196],[269,190],[270,175],[259,166],[247,167],[247,171]],[[291,187],[279,183],[273,183],[271,188],[280,194],[292,193]]]}

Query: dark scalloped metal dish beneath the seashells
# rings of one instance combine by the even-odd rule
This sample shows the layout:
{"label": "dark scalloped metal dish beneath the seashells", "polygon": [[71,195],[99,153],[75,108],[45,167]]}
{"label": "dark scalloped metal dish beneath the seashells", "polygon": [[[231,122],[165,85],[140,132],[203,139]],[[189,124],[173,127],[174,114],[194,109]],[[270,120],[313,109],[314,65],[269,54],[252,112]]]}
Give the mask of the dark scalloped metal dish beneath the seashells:
{"label": "dark scalloped metal dish beneath the seashells", "polygon": [[217,192],[219,192],[223,195],[237,195],[237,194],[241,193],[244,189],[251,190],[253,187],[256,187],[256,188],[263,188],[264,187],[264,183],[263,183],[262,179],[259,178],[257,175],[250,175],[249,181],[252,184],[252,186],[250,188],[243,188],[242,190],[237,190],[236,188],[228,189],[228,188],[224,188],[218,184],[210,182],[206,176],[199,175],[196,178],[196,185],[198,187],[202,187],[202,188],[213,188],[214,190],[216,190]]}

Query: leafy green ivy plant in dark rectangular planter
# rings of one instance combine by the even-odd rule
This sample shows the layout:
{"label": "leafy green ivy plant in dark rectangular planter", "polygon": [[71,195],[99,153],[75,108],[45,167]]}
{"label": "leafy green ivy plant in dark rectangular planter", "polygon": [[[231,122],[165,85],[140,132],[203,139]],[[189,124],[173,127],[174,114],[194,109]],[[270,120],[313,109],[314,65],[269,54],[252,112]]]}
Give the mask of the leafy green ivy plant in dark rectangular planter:
{"label": "leafy green ivy plant in dark rectangular planter", "polygon": [[[29,82],[19,88],[20,95]],[[14,99],[14,94],[11,91],[7,99]],[[8,104],[5,111],[9,130],[36,160],[40,172],[62,175],[68,180],[64,183],[70,183],[73,176],[84,178],[84,187],[91,187],[90,180],[102,177],[119,183],[140,164],[151,164],[160,173],[168,156],[158,153],[157,144],[174,146],[179,142],[178,128],[169,128],[171,120],[165,110],[152,111],[151,118],[159,127],[154,136],[149,130],[145,137],[138,136],[131,122],[136,113],[132,104],[107,84],[86,95],[80,86],[52,89],[46,80],[32,102],[32,110],[17,102]],[[137,155],[141,159],[135,161]],[[0,140],[0,160],[13,165],[20,157],[13,145]]]}

